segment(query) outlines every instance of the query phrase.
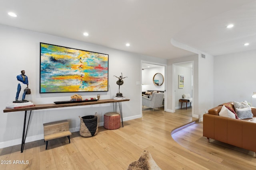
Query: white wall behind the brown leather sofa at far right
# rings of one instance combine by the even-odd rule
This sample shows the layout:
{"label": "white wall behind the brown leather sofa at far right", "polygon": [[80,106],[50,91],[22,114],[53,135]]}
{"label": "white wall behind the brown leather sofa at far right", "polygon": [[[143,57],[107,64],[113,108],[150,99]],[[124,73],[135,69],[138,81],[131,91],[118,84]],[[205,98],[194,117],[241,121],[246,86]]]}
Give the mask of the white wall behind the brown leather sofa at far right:
{"label": "white wall behind the brown leather sofa at far right", "polygon": [[[256,92],[256,50],[214,57],[214,106],[250,102]],[[252,100],[256,107],[256,100]]]}

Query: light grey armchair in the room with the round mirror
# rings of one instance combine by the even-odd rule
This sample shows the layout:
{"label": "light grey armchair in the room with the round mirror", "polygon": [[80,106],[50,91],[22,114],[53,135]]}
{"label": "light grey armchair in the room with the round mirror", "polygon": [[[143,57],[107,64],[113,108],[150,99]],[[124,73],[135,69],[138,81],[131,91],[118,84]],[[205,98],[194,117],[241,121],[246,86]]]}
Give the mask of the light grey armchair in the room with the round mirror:
{"label": "light grey armchair in the room with the round mirror", "polygon": [[142,96],[142,106],[154,109],[163,106],[164,93],[153,93],[151,98]]}

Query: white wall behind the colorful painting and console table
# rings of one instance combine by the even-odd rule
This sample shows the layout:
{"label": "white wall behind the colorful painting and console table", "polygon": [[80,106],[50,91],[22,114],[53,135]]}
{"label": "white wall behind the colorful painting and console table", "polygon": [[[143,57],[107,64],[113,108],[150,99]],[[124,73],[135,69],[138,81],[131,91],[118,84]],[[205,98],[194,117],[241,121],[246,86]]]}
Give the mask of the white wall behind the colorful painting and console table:
{"label": "white wall behind the colorful painting and console table", "polygon": [[[60,45],[64,47],[83,49],[109,55],[109,91],[108,92],[82,92],[83,98],[101,94],[101,99],[114,98],[118,92],[117,78],[121,72],[124,84],[120,92],[130,99],[122,103],[124,121],[141,117],[141,61],[150,61],[166,64],[165,59],[148,57],[134,53],[110,49],[100,45],[74,41],[62,37],[27,31],[5,25],[0,25],[1,72],[2,85],[0,88],[0,108],[5,109],[6,104],[15,100],[17,80],[20,70],[25,70],[29,79],[30,95],[27,100],[34,104],[48,104],[54,101],[70,100],[74,93],[39,93],[40,76],[40,42]],[[43,123],[68,119],[70,130],[79,131],[80,119],[78,116],[94,115],[98,112],[98,122],[103,125],[103,115],[113,111],[112,104],[92,106],[65,107],[57,109],[43,109],[32,111],[30,127],[26,142],[43,139]],[[0,148],[21,143],[24,112],[10,112],[0,114]]]}

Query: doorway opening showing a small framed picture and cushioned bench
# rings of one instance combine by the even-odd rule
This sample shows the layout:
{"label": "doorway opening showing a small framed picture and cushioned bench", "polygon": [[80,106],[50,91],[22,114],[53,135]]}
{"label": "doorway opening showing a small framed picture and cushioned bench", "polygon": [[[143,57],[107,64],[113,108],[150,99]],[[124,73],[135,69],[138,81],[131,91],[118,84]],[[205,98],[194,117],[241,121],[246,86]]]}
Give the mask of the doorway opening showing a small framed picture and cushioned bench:
{"label": "doorway opening showing a small framed picture and cushioned bench", "polygon": [[[180,77],[183,78],[180,81]],[[194,84],[194,61],[182,62],[182,63],[174,63],[173,64],[173,93],[172,101],[173,101],[173,110],[175,112],[176,109],[186,109],[186,104],[188,105],[188,115],[193,117],[194,108],[193,108],[193,84]],[[180,82],[179,82],[180,81]],[[180,99],[191,98],[191,106],[190,102],[182,103],[179,102]],[[182,106],[182,107],[181,107]]]}

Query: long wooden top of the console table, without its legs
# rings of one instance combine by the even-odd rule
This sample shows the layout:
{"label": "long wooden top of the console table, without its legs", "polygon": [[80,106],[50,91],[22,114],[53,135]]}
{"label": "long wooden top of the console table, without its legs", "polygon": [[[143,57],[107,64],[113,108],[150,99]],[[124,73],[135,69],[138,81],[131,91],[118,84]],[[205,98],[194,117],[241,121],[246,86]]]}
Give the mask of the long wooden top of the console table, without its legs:
{"label": "long wooden top of the console table, without its legs", "polygon": [[86,105],[93,105],[93,104],[105,104],[105,103],[116,103],[116,102],[125,102],[129,101],[130,99],[122,99],[122,100],[114,100],[114,99],[105,99],[105,100],[98,100],[93,102],[80,102],[80,103],[70,103],[70,104],[36,104],[35,106],[30,107],[22,107],[16,109],[6,108],[4,109],[4,113],[6,112],[13,112],[13,111],[28,111],[28,110],[39,110],[39,109],[50,109],[50,108],[58,108],[58,107],[71,107],[71,106],[86,106]]}

